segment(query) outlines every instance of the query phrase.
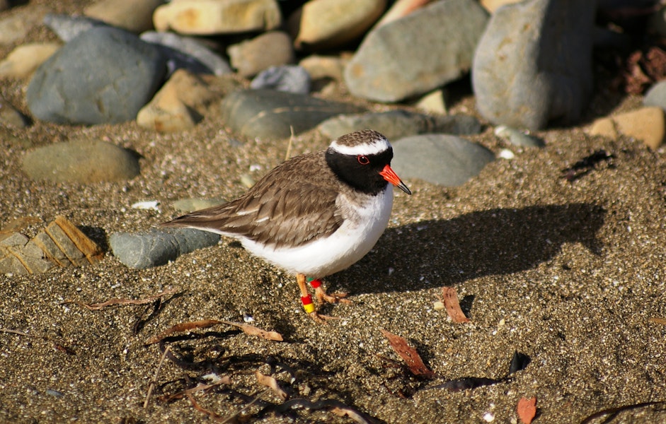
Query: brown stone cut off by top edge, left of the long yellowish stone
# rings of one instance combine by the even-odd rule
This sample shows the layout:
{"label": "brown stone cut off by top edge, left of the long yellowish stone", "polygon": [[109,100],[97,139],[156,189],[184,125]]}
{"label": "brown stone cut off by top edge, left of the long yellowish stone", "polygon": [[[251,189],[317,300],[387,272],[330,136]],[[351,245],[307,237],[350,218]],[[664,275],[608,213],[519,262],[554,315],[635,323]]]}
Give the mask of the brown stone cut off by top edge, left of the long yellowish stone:
{"label": "brown stone cut off by top edge, left of the long yellowish stone", "polygon": [[84,9],[84,15],[132,33],[153,28],[153,12],[163,0],[101,0]]}

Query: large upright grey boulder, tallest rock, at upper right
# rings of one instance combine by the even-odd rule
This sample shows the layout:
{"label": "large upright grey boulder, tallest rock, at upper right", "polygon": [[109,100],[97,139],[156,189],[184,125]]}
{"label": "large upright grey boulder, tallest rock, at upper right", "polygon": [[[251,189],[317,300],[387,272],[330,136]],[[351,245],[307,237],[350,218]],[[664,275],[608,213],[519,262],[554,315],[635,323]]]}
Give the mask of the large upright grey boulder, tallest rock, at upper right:
{"label": "large upright grey boulder, tallest rock, at upper right", "polygon": [[472,71],[476,105],[494,124],[531,130],[576,122],[592,93],[596,1],[530,0],[493,14]]}

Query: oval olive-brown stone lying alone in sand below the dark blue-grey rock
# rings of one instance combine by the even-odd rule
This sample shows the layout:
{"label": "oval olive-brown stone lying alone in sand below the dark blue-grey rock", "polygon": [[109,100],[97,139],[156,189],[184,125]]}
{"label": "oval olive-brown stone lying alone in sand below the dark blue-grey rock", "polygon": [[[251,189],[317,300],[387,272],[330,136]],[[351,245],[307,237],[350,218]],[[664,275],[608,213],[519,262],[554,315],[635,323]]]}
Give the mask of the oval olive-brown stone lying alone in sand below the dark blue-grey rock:
{"label": "oval olive-brown stone lying alone in sand below the dark blue-grey rock", "polygon": [[124,181],[139,175],[135,153],[104,141],[54,143],[27,153],[23,172],[30,179],[90,184]]}

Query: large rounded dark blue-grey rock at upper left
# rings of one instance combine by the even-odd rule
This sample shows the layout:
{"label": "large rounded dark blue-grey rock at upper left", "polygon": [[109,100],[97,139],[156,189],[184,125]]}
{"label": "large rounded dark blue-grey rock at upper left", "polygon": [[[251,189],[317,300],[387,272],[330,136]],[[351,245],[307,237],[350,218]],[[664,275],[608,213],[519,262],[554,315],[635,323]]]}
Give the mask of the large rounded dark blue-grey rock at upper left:
{"label": "large rounded dark blue-grey rock at upper left", "polygon": [[163,81],[157,47],[110,27],[71,40],[35,71],[26,100],[38,119],[102,124],[134,119]]}

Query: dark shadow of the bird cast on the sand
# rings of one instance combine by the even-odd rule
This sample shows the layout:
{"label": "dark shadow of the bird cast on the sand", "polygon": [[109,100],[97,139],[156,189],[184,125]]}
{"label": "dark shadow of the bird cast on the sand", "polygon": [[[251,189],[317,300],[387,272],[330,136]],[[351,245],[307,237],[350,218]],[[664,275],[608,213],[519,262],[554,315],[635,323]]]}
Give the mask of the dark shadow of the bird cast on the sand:
{"label": "dark shadow of the bird cast on the sand", "polygon": [[578,203],[495,208],[389,228],[370,254],[327,281],[356,294],[400,292],[533,269],[565,243],[599,254],[604,216],[602,207]]}

